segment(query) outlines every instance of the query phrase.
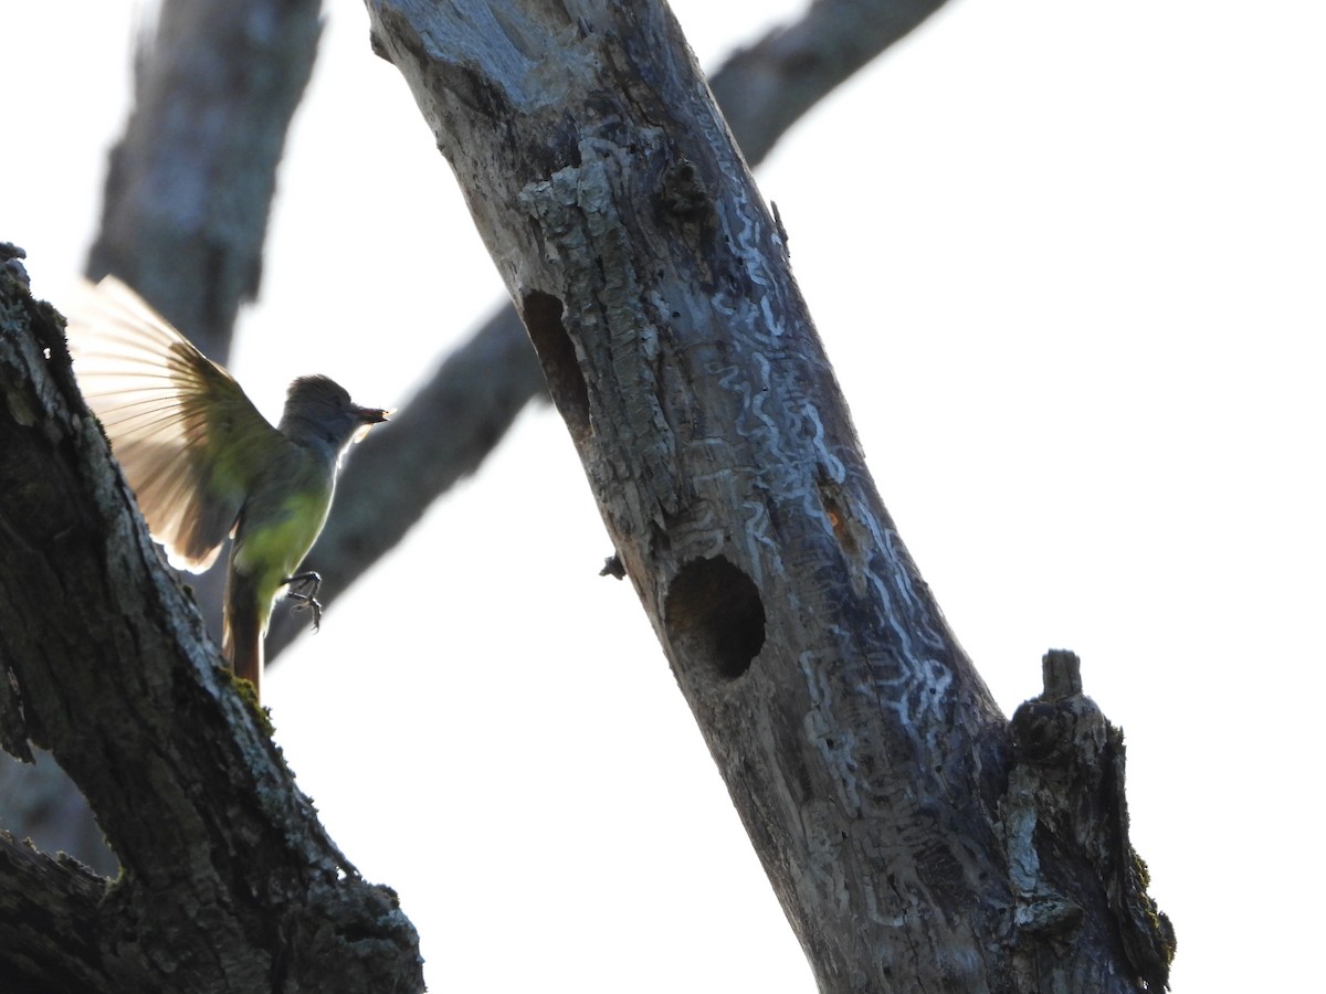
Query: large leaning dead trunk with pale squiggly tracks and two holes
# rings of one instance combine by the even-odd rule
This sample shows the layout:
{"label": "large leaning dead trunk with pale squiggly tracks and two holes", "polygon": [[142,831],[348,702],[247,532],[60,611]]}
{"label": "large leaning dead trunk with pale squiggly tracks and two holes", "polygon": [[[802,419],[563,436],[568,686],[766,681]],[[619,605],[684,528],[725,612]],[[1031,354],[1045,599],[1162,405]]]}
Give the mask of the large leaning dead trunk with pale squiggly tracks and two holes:
{"label": "large leaning dead trunk with pale squiggly tracks and two holes", "polygon": [[[1062,819],[1042,851],[1033,804],[1010,850],[1022,755],[874,489],[786,237],[666,8],[369,9],[821,989],[1156,975]],[[1014,876],[1026,846],[1041,872]],[[1081,913],[1020,917],[1032,877]]]}

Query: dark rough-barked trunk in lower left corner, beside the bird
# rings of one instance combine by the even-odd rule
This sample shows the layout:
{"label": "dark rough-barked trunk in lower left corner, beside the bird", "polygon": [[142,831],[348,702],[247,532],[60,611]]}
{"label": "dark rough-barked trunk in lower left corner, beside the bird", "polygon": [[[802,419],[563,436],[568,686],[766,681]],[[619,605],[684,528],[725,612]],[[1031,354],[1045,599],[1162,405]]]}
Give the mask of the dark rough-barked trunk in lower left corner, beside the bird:
{"label": "dark rough-barked trunk in lower left corner, beside the bird", "polygon": [[0,836],[32,991],[422,990],[414,928],[322,831],[133,510],[62,326],[0,252],[0,742],[45,746],[114,881]]}

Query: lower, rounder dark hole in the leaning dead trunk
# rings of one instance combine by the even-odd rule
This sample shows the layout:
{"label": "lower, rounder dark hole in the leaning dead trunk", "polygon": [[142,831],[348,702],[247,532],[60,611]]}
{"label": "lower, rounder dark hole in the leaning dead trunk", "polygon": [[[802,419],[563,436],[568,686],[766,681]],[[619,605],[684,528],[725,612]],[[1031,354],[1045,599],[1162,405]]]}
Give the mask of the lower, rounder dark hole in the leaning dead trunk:
{"label": "lower, rounder dark hole in the leaning dead trunk", "polygon": [[735,680],[764,647],[764,603],[739,566],[724,559],[692,559],[668,587],[668,639],[679,656],[697,657]]}

